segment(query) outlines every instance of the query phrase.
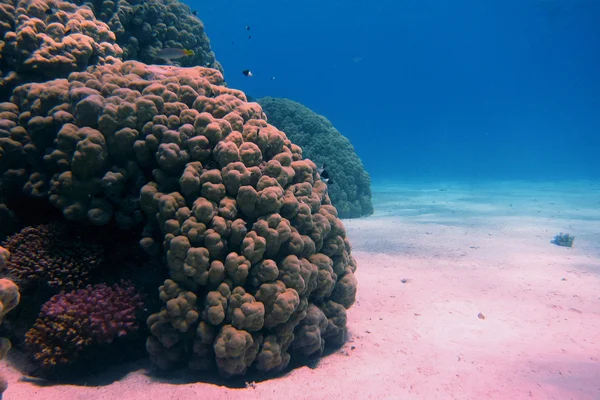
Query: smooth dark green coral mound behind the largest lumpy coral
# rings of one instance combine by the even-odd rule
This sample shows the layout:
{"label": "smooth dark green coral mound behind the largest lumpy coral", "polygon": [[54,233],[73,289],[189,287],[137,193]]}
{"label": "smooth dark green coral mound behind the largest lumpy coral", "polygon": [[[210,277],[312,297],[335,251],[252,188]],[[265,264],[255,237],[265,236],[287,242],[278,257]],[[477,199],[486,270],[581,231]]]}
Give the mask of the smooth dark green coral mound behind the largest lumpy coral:
{"label": "smooth dark green coral mound behind the largest lumpy coral", "polygon": [[329,197],[340,218],[373,213],[371,178],[350,141],[327,118],[288,99],[263,97],[257,102],[269,123],[302,148],[303,157],[317,165],[327,165],[333,181],[329,185]]}

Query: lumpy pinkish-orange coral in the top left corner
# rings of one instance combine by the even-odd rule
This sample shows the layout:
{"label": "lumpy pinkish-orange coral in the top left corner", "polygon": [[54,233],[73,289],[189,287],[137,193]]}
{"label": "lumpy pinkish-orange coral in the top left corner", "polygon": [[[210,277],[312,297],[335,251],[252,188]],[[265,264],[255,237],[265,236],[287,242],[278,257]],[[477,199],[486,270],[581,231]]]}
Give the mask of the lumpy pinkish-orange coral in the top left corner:
{"label": "lumpy pinkish-orange coral in the top left corner", "polygon": [[65,77],[121,58],[108,25],[62,0],[0,1],[0,99],[25,80]]}

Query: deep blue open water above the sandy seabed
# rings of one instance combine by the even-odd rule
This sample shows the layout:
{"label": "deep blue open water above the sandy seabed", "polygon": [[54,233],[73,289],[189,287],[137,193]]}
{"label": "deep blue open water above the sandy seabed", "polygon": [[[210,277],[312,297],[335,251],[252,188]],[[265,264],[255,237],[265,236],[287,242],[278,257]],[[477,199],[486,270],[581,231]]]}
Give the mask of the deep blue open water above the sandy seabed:
{"label": "deep blue open water above the sandy seabed", "polygon": [[598,0],[186,2],[231,87],[326,116],[374,181],[600,177]]}

